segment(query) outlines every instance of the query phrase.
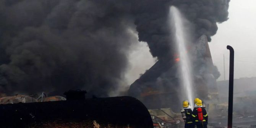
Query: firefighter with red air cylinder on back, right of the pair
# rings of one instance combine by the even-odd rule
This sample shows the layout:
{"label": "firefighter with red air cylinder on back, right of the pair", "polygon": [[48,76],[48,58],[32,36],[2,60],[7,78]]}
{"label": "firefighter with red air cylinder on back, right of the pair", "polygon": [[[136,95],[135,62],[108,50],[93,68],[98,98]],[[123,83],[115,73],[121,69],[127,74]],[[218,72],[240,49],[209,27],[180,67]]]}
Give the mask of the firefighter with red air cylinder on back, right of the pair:
{"label": "firefighter with red air cylinder on back, right of the pair", "polygon": [[202,100],[197,100],[192,113],[193,122],[197,128],[207,128],[208,115],[203,107]]}

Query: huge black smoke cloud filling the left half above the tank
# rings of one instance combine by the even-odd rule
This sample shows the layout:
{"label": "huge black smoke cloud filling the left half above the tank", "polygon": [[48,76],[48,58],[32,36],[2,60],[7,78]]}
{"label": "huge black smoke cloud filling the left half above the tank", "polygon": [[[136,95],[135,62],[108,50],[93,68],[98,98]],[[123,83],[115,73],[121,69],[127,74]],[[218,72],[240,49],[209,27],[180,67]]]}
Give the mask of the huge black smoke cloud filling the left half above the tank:
{"label": "huge black smoke cloud filling the left half above the tank", "polygon": [[1,91],[86,89],[107,96],[117,89],[136,42],[126,7],[89,0],[1,0]]}

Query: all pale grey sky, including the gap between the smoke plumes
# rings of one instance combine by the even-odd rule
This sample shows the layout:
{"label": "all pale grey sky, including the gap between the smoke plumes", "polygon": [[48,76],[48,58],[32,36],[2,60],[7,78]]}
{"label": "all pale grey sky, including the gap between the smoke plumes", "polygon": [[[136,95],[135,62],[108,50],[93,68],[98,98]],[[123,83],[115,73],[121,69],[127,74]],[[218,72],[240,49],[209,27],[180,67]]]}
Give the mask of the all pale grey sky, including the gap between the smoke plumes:
{"label": "all pale grey sky, including the gap between the smoke plumes", "polygon": [[[229,19],[218,24],[218,31],[209,42],[212,60],[221,73],[219,80],[224,79],[223,54],[225,54],[225,72],[228,79],[229,50],[235,50],[234,78],[256,76],[256,0],[231,0]],[[134,32],[134,36],[137,36]],[[125,75],[126,83],[131,84],[156,62],[152,58],[145,42],[138,42],[136,49],[130,53],[130,69]]]}

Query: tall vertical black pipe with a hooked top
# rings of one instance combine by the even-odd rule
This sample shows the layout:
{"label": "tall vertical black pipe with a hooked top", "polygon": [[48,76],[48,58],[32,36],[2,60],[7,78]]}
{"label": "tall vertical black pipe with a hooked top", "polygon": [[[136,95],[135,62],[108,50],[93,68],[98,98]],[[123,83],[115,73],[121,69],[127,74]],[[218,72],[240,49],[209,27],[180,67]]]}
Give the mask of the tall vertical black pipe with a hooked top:
{"label": "tall vertical black pipe with a hooked top", "polygon": [[229,87],[228,87],[228,128],[232,128],[233,117],[233,82],[234,82],[234,49],[227,45],[229,56]]}

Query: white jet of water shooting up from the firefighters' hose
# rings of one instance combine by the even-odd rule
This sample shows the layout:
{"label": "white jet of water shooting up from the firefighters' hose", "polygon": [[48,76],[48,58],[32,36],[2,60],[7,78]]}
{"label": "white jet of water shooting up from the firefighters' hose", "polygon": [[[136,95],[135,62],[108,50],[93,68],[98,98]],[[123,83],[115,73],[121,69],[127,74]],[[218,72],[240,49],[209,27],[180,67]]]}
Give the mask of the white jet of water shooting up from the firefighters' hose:
{"label": "white jet of water shooting up from the firefighters' hose", "polygon": [[193,91],[192,91],[192,79],[191,79],[191,63],[188,57],[186,45],[188,41],[188,32],[184,28],[184,18],[180,11],[175,6],[170,6],[170,29],[174,33],[174,42],[176,44],[178,54],[180,56],[179,71],[180,71],[180,83],[183,87],[183,94],[186,94],[184,98],[187,98],[193,107]]}

